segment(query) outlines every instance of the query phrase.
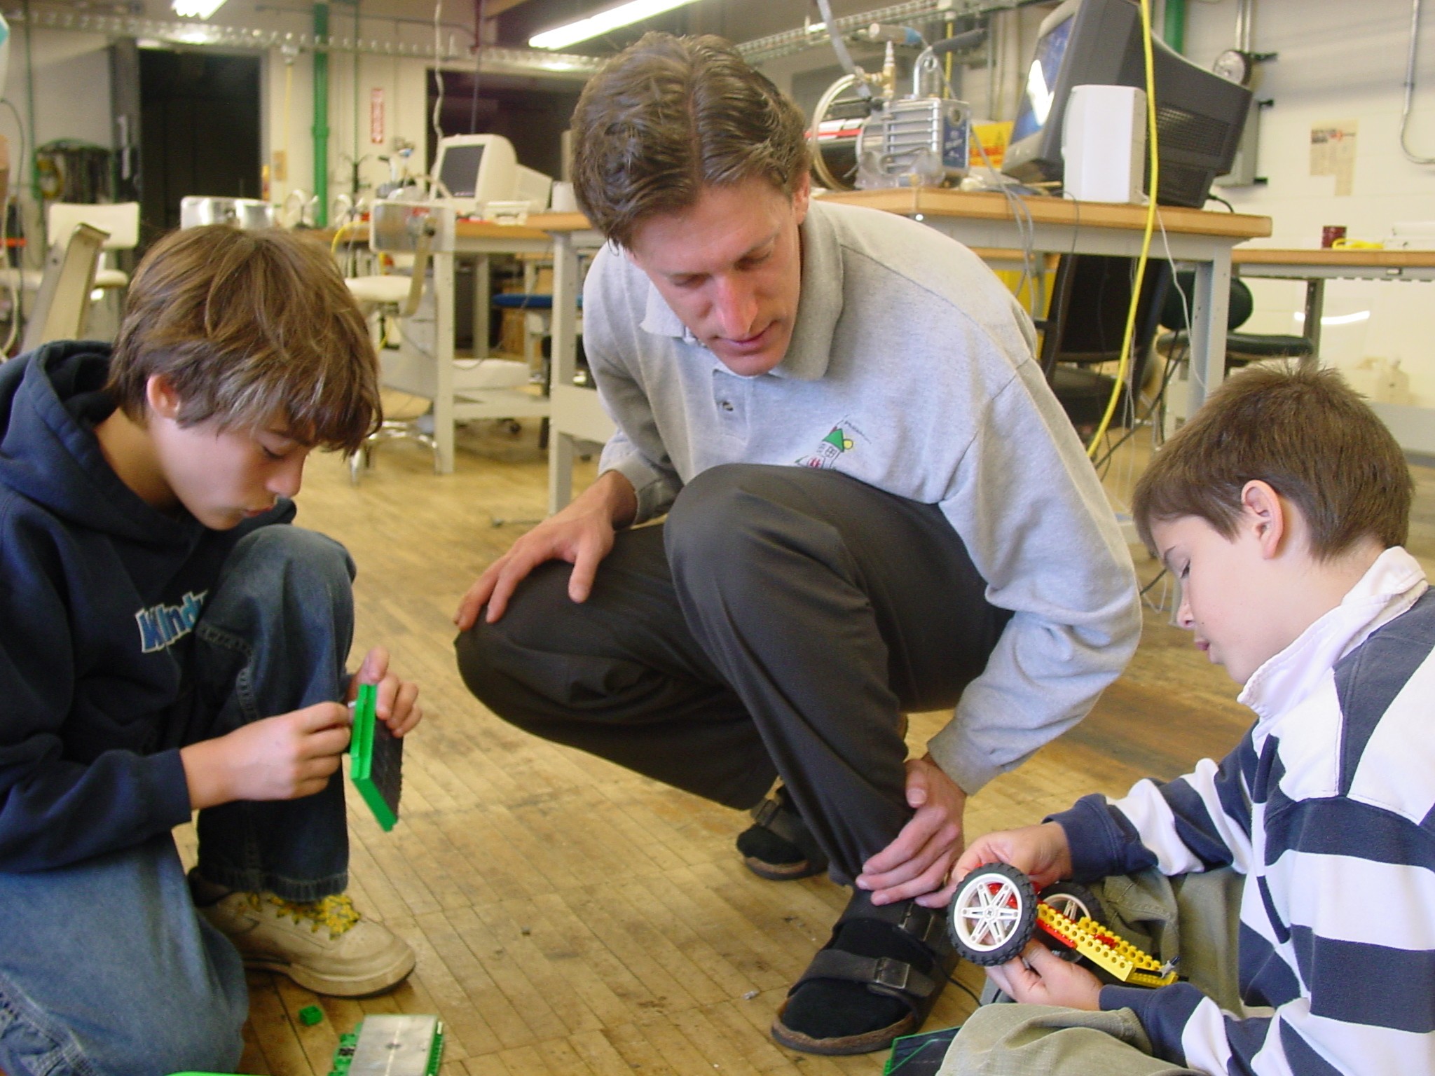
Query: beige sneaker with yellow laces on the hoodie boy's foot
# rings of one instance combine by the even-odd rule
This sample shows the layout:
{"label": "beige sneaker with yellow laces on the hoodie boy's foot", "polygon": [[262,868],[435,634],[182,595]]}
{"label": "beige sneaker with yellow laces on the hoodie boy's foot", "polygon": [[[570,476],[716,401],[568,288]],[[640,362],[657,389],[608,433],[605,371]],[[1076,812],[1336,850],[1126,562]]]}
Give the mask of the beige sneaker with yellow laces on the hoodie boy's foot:
{"label": "beige sneaker with yellow laces on the hoodie boy's foot", "polygon": [[316,994],[376,994],[413,971],[409,944],[362,918],[346,894],[296,904],[271,892],[231,892],[198,907],[245,967],[278,971]]}

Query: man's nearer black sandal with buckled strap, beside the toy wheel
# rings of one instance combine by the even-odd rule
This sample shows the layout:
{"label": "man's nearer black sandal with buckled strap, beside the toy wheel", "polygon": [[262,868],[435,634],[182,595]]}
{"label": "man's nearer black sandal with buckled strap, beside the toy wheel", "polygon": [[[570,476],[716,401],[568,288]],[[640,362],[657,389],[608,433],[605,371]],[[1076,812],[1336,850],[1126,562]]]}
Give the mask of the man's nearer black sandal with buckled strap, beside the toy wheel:
{"label": "man's nearer black sandal with buckled strap, beside the toy wheel", "polygon": [[878,907],[858,889],[788,991],[772,1037],[804,1053],[884,1050],[921,1027],[956,963],[944,910]]}

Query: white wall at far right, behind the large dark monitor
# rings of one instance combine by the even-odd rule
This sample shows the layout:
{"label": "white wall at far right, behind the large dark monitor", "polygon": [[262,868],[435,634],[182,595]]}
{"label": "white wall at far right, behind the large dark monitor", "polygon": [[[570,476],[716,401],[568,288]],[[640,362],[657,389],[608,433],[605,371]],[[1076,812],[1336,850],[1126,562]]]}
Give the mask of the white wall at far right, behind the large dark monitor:
{"label": "white wall at far right, behind the large dark monitor", "polygon": [[[1236,0],[1188,6],[1187,56],[1208,66],[1236,43]],[[1257,175],[1264,187],[1217,188],[1240,212],[1271,218],[1260,245],[1317,247],[1320,228],[1343,224],[1350,238],[1380,240],[1396,221],[1435,221],[1435,166],[1415,165],[1399,146],[1411,0],[1256,0],[1256,52],[1280,53],[1260,66],[1256,93],[1276,103],[1261,115]],[[1310,175],[1310,128],[1356,119],[1353,191]],[[1425,3],[1409,126],[1416,155],[1435,156],[1435,4]],[[1253,281],[1251,331],[1300,331],[1304,285]],[[1363,357],[1399,359],[1416,403],[1435,407],[1435,284],[1330,281],[1323,357],[1343,369]]]}

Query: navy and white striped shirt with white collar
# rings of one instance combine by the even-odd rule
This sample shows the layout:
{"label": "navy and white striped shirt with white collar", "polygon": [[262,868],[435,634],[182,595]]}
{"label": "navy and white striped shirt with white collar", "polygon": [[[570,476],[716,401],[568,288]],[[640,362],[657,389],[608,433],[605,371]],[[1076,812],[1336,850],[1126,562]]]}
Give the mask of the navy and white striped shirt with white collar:
{"label": "navy and white striped shirt with white collar", "polygon": [[1078,878],[1246,875],[1237,1017],[1188,983],[1104,987],[1208,1073],[1435,1073],[1435,594],[1386,549],[1256,670],[1220,765],[1058,815]]}

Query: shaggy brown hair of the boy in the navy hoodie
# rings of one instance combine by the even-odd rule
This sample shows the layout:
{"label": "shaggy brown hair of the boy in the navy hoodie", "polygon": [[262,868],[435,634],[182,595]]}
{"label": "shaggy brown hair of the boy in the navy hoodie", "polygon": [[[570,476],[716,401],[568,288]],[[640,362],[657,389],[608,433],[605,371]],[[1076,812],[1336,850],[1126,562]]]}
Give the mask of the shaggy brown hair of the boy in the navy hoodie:
{"label": "shaggy brown hair of the boy in the navy hoodie", "polygon": [[354,452],[380,422],[379,362],[357,303],[317,240],[188,228],[135,270],[106,389],[136,422],[162,374],[179,423],[258,429]]}

